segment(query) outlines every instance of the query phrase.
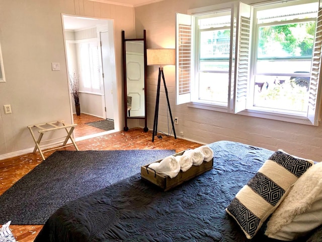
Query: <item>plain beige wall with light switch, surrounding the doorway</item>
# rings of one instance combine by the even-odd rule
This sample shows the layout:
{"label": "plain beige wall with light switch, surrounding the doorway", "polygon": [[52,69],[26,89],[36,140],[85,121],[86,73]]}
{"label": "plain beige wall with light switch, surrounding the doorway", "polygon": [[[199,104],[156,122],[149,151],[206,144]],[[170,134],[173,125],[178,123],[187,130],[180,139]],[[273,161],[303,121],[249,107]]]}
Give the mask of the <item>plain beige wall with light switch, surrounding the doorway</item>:
{"label": "plain beige wall with light switch, surrounding the doorway", "polygon": [[[0,159],[30,152],[27,126],[72,122],[61,13],[114,20],[117,96],[123,100],[121,31],[134,36],[133,8],[88,0],[1,0],[0,42],[6,83],[0,83]],[[51,63],[60,71],[51,71]],[[12,114],[3,105],[11,104]],[[123,123],[122,105],[120,122]],[[120,124],[123,127],[123,124]]]}

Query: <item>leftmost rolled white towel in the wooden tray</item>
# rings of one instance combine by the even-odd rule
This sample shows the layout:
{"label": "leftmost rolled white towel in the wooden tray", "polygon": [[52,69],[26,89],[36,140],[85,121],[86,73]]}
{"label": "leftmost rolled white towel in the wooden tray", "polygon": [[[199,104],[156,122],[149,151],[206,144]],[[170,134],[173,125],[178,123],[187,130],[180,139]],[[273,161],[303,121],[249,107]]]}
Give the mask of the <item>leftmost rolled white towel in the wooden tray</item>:
{"label": "leftmost rolled white towel in the wooden tray", "polygon": [[151,163],[148,167],[157,173],[169,175],[170,178],[176,177],[180,171],[180,163],[173,155],[164,158],[160,162]]}

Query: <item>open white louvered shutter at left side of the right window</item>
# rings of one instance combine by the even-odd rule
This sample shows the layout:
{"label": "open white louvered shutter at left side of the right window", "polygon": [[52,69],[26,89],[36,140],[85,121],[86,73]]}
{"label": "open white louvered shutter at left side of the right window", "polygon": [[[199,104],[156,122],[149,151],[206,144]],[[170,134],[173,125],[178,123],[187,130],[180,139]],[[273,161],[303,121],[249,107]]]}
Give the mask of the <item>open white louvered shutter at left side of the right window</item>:
{"label": "open white louvered shutter at left side of the right window", "polygon": [[250,73],[250,38],[251,38],[250,5],[239,3],[237,8],[235,70],[234,70],[234,105],[233,112],[246,109],[247,89]]}

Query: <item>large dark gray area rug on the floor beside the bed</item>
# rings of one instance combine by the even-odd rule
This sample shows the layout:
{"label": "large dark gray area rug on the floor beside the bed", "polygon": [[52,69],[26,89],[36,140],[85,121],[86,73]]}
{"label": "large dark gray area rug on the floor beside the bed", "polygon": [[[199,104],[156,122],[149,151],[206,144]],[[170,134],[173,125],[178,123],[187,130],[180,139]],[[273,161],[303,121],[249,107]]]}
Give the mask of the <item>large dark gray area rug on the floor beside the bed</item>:
{"label": "large dark gray area rug on the floor beside the bed", "polygon": [[0,224],[44,224],[63,204],[140,172],[174,150],[55,151],[0,196]]}

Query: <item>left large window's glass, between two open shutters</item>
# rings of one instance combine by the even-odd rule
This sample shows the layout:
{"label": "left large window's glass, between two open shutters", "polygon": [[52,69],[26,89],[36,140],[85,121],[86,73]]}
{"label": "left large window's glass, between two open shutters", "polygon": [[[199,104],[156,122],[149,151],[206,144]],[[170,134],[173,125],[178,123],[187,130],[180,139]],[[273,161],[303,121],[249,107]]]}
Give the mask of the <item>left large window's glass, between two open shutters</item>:
{"label": "left large window's glass, between two open shutters", "polygon": [[230,12],[197,18],[198,99],[227,105],[230,53]]}

